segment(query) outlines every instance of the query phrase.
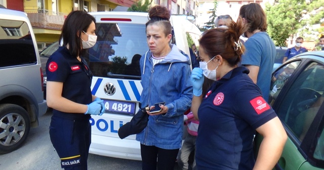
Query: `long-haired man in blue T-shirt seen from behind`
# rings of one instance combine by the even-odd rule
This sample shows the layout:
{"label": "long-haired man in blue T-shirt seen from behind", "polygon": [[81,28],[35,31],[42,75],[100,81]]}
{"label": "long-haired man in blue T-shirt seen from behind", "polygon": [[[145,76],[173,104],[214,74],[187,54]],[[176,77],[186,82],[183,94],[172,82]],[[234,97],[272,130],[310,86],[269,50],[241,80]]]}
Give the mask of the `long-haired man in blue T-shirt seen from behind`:
{"label": "long-haired man in blue T-shirt seen from behind", "polygon": [[250,70],[248,74],[262,91],[263,98],[268,101],[270,80],[274,59],[275,45],[268,35],[267,18],[260,4],[243,5],[239,10],[239,18],[249,29],[244,33],[246,52],[242,55],[241,65]]}

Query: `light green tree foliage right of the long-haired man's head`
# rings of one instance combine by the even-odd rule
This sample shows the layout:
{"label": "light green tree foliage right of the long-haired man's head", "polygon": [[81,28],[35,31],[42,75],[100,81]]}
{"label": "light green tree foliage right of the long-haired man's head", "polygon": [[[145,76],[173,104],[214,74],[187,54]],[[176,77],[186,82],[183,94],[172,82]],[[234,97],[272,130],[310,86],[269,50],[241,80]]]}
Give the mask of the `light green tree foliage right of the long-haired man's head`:
{"label": "light green tree foliage right of the long-haired man's head", "polygon": [[322,0],[275,0],[266,4],[268,33],[276,46],[287,46],[289,37],[318,24],[324,16]]}

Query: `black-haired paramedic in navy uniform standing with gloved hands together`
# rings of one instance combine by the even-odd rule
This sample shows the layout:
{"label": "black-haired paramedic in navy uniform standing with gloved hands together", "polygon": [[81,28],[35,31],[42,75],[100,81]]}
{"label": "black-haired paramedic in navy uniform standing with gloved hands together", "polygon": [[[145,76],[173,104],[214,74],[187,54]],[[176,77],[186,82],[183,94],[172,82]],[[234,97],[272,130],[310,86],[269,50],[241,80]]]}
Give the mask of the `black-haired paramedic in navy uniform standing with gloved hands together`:
{"label": "black-haired paramedic in navy uniform standing with gloved hands together", "polygon": [[51,142],[64,169],[87,169],[91,143],[90,115],[102,115],[103,101],[91,94],[92,73],[82,58],[96,44],[95,18],[71,12],[64,21],[63,46],[46,64],[47,104],[53,108]]}

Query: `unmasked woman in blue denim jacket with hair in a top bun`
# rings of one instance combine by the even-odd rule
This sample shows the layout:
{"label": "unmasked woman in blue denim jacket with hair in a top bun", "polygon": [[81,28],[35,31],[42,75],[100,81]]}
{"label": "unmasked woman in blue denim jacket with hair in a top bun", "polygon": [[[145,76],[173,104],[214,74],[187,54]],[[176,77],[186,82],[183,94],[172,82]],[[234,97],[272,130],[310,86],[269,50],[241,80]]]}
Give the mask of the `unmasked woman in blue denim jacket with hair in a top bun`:
{"label": "unmasked woman in blue denim jacket with hair in a top bun", "polygon": [[[143,91],[140,102],[161,111],[149,113],[148,124],[137,134],[142,169],[173,169],[182,142],[183,113],[191,106],[190,59],[170,44],[170,11],[155,6],[149,11],[146,36],[149,51],[140,60]],[[157,162],[156,162],[157,160]]]}

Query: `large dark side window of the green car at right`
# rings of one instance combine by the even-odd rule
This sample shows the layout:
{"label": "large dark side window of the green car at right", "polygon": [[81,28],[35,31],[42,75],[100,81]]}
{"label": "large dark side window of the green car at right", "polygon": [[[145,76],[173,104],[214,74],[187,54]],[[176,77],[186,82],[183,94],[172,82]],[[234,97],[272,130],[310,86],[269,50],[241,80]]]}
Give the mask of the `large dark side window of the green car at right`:
{"label": "large dark side window of the green car at right", "polygon": [[322,76],[324,67],[315,62],[310,63],[298,75],[277,109],[278,117],[301,142],[323,102]]}

